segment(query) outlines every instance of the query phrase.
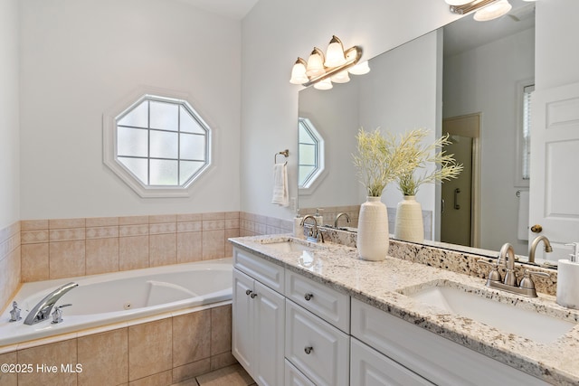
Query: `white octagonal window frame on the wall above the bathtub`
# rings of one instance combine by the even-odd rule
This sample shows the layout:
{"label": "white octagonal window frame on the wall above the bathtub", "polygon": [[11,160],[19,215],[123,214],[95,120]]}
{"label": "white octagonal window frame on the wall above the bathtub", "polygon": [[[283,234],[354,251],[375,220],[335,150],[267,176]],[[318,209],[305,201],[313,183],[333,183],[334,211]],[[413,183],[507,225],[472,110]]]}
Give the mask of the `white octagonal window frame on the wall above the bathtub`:
{"label": "white octagonal window frame on the wall above the bathtub", "polygon": [[[174,103],[186,104],[185,108],[189,113],[192,113],[200,125],[206,129],[205,164],[194,174],[194,176],[192,176],[192,178],[188,179],[185,184],[175,186],[144,184],[117,159],[117,118],[126,113],[130,108],[137,106],[144,99],[157,99],[161,101],[173,101]],[[207,170],[211,167],[213,153],[212,126],[207,124],[207,121],[201,117],[197,108],[193,108],[189,99],[189,96],[183,92],[141,87],[124,99],[119,100],[113,108],[110,108],[109,111],[103,114],[103,163],[107,165],[114,174],[117,174],[125,184],[135,191],[135,193],[138,193],[140,197],[190,197],[192,185],[199,179],[199,177],[206,174]]]}

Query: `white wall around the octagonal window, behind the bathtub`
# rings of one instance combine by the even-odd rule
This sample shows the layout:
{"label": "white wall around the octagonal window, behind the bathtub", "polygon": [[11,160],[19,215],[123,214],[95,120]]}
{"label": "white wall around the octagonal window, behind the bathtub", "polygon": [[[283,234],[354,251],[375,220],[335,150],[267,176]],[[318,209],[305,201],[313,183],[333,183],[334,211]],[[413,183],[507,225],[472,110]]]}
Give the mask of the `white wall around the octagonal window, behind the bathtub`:
{"label": "white wall around the octagonal window, behind the bathtub", "polygon": [[[20,3],[22,219],[239,210],[241,22],[165,0]],[[102,163],[102,114],[141,85],[187,93],[214,129],[190,198],[141,199]]]}

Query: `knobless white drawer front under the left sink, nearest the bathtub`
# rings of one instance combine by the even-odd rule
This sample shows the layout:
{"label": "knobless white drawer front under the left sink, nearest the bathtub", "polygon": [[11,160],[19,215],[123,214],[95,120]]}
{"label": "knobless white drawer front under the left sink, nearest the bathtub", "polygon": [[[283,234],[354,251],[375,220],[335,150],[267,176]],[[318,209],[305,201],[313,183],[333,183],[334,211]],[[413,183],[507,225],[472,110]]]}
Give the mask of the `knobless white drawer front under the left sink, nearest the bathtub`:
{"label": "knobless white drawer front under the left sink, nearest the bathtub", "polygon": [[283,267],[238,248],[233,248],[233,267],[261,281],[261,283],[278,291],[280,294],[283,293]]}

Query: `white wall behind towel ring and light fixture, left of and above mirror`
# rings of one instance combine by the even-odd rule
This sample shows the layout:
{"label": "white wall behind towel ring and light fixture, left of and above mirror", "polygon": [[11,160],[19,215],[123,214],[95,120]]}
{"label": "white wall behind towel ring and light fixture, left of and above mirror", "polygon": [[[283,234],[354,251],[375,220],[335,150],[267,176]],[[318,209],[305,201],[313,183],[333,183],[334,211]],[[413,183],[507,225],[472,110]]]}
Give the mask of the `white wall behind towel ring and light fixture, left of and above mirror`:
{"label": "white wall behind towel ring and light fixture, left of and above mirror", "polygon": [[[296,181],[298,91],[289,84],[298,56],[326,49],[332,34],[364,58],[392,49],[456,16],[442,0],[260,1],[242,21],[242,210],[290,218],[271,205],[272,156],[289,148]],[[294,189],[290,196],[296,196]]]}

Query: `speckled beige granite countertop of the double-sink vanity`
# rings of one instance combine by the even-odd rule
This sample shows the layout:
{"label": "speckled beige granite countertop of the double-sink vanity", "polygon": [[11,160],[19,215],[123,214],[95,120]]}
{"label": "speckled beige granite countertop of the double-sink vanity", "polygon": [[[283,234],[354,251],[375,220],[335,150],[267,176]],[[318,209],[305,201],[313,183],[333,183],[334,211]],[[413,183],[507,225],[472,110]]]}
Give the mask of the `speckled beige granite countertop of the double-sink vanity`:
{"label": "speckled beige granite countertop of the double-sink vanity", "polygon": [[[268,245],[288,240],[289,237],[251,236],[230,241],[262,259],[299,272],[522,372],[553,384],[579,384],[579,325],[554,342],[541,344],[468,317],[442,311],[403,294],[433,285],[447,285],[511,306],[579,323],[579,311],[558,306],[555,297],[542,293],[534,298],[521,297],[486,287],[485,280],[481,278],[403,259],[387,257],[384,261],[366,261],[359,259],[355,248],[333,242],[318,244],[317,249],[308,252],[282,252]],[[300,242],[305,243],[305,240]]]}

